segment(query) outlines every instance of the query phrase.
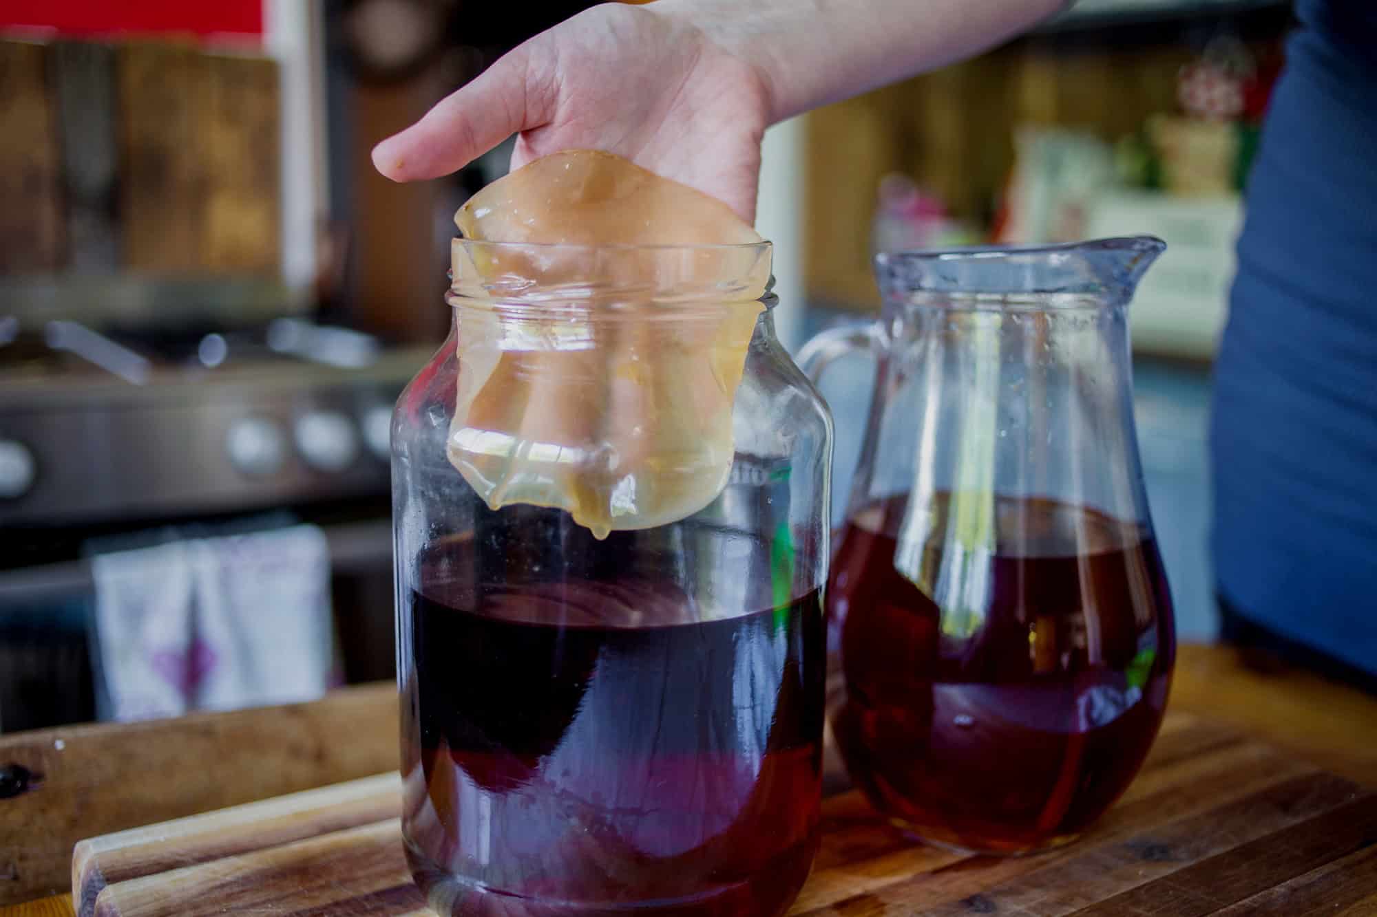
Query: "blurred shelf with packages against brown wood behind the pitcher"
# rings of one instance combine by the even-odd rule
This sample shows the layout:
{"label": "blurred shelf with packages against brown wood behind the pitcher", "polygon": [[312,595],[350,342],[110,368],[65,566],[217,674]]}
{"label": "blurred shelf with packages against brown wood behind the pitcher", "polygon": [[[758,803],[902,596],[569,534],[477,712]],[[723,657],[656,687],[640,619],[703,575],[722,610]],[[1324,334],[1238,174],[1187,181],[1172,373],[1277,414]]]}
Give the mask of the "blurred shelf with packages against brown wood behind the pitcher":
{"label": "blurred shelf with packages against brown wood behind the pitcher", "polygon": [[[1150,6],[1168,8],[1092,3],[1073,12]],[[810,114],[808,302],[877,311],[874,251],[1151,233],[1169,255],[1137,297],[1135,344],[1209,361],[1234,270],[1241,189],[1287,21],[1285,4],[1170,7],[1245,7],[1283,15],[1261,26],[1201,21],[1147,37],[1122,30],[1131,41],[1034,34]],[[912,187],[895,196],[905,182]]]}

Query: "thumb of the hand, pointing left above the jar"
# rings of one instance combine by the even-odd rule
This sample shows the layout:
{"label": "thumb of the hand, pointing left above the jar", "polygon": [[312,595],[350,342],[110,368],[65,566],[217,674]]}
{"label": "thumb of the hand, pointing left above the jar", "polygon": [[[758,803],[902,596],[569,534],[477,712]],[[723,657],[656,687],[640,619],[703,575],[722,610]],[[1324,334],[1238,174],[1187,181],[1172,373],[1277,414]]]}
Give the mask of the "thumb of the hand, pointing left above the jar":
{"label": "thumb of the hand, pointing left above the jar", "polygon": [[532,73],[532,50],[511,51],[401,134],[373,147],[373,165],[394,182],[432,179],[456,172],[512,134],[541,127],[551,117],[552,96],[540,87],[551,80]]}

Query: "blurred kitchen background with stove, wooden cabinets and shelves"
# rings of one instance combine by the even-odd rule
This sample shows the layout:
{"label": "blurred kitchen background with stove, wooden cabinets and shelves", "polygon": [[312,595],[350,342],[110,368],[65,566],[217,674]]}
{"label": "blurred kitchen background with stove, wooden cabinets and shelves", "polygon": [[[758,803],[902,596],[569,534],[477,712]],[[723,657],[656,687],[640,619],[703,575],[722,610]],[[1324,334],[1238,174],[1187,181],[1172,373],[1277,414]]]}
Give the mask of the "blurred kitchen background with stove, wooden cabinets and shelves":
{"label": "blurred kitchen background with stove, wooden cabinets and shelves", "polygon": [[[0,731],[391,677],[388,413],[452,215],[373,143],[585,3],[0,6]],[[1082,0],[766,138],[781,335],[865,321],[877,248],[1155,233],[1137,420],[1184,639],[1216,631],[1209,366],[1290,7]],[[870,368],[834,368],[836,518]]]}

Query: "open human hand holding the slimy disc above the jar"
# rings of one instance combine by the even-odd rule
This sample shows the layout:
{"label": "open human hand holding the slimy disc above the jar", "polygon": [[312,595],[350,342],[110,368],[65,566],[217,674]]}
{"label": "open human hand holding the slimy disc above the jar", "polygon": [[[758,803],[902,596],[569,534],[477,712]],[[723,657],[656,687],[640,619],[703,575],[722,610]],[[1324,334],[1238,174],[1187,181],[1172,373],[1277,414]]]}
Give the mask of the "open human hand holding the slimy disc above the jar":
{"label": "open human hand holding the slimy disc above the jar", "polygon": [[519,134],[511,167],[617,153],[755,220],[766,77],[675,7],[605,4],[500,58],[373,149],[395,182],[448,175]]}

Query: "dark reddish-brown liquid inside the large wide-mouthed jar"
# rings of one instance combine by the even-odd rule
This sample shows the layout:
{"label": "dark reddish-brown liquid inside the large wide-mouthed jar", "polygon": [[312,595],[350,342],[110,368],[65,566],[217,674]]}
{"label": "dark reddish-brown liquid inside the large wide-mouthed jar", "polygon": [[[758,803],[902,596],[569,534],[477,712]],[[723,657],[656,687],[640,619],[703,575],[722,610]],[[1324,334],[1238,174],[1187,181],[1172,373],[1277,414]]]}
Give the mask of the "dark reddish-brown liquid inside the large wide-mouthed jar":
{"label": "dark reddish-brown liquid inside the large wide-mouthed jar", "polygon": [[[585,533],[565,534],[567,560]],[[419,565],[401,611],[403,832],[441,913],[778,914],[803,885],[818,845],[821,596],[704,617],[614,560],[636,537],[588,538],[613,562],[543,584],[489,576],[505,552],[485,563],[471,540]]]}

